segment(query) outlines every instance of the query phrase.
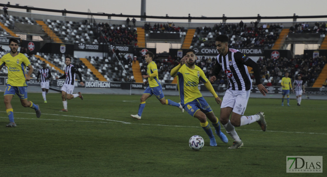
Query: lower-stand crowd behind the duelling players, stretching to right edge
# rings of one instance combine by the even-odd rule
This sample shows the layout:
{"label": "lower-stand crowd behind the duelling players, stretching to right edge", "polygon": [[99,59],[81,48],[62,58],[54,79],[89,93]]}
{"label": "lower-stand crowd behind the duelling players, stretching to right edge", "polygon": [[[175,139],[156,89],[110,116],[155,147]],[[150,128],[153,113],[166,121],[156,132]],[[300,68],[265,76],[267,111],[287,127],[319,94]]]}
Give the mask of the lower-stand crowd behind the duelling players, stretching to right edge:
{"label": "lower-stand crowd behind the duelling players, stretching to right edge", "polygon": [[[143,62],[143,65],[140,68],[142,75],[147,75],[147,64],[144,57],[139,59],[140,62]],[[176,55],[174,57],[169,56],[167,59],[159,59],[158,56],[156,56],[153,61],[157,64],[159,69],[159,79],[163,79],[163,77],[160,76],[160,73],[170,73],[171,69],[177,66],[180,60],[181,58]],[[285,72],[289,72],[289,78],[292,79],[292,83],[300,74],[302,80],[305,82],[305,86],[311,87],[324,67],[326,57],[312,58],[308,57],[308,55],[304,55],[303,58],[280,58],[277,60],[260,57],[257,63],[260,67],[261,82],[266,86],[281,86],[279,81],[284,77]],[[215,66],[215,56],[198,56],[196,65],[204,71],[207,78],[210,78],[213,76],[212,69]],[[250,74],[250,77],[253,79],[252,84],[255,85],[254,75]],[[223,70],[213,84],[227,87],[228,79]]]}

